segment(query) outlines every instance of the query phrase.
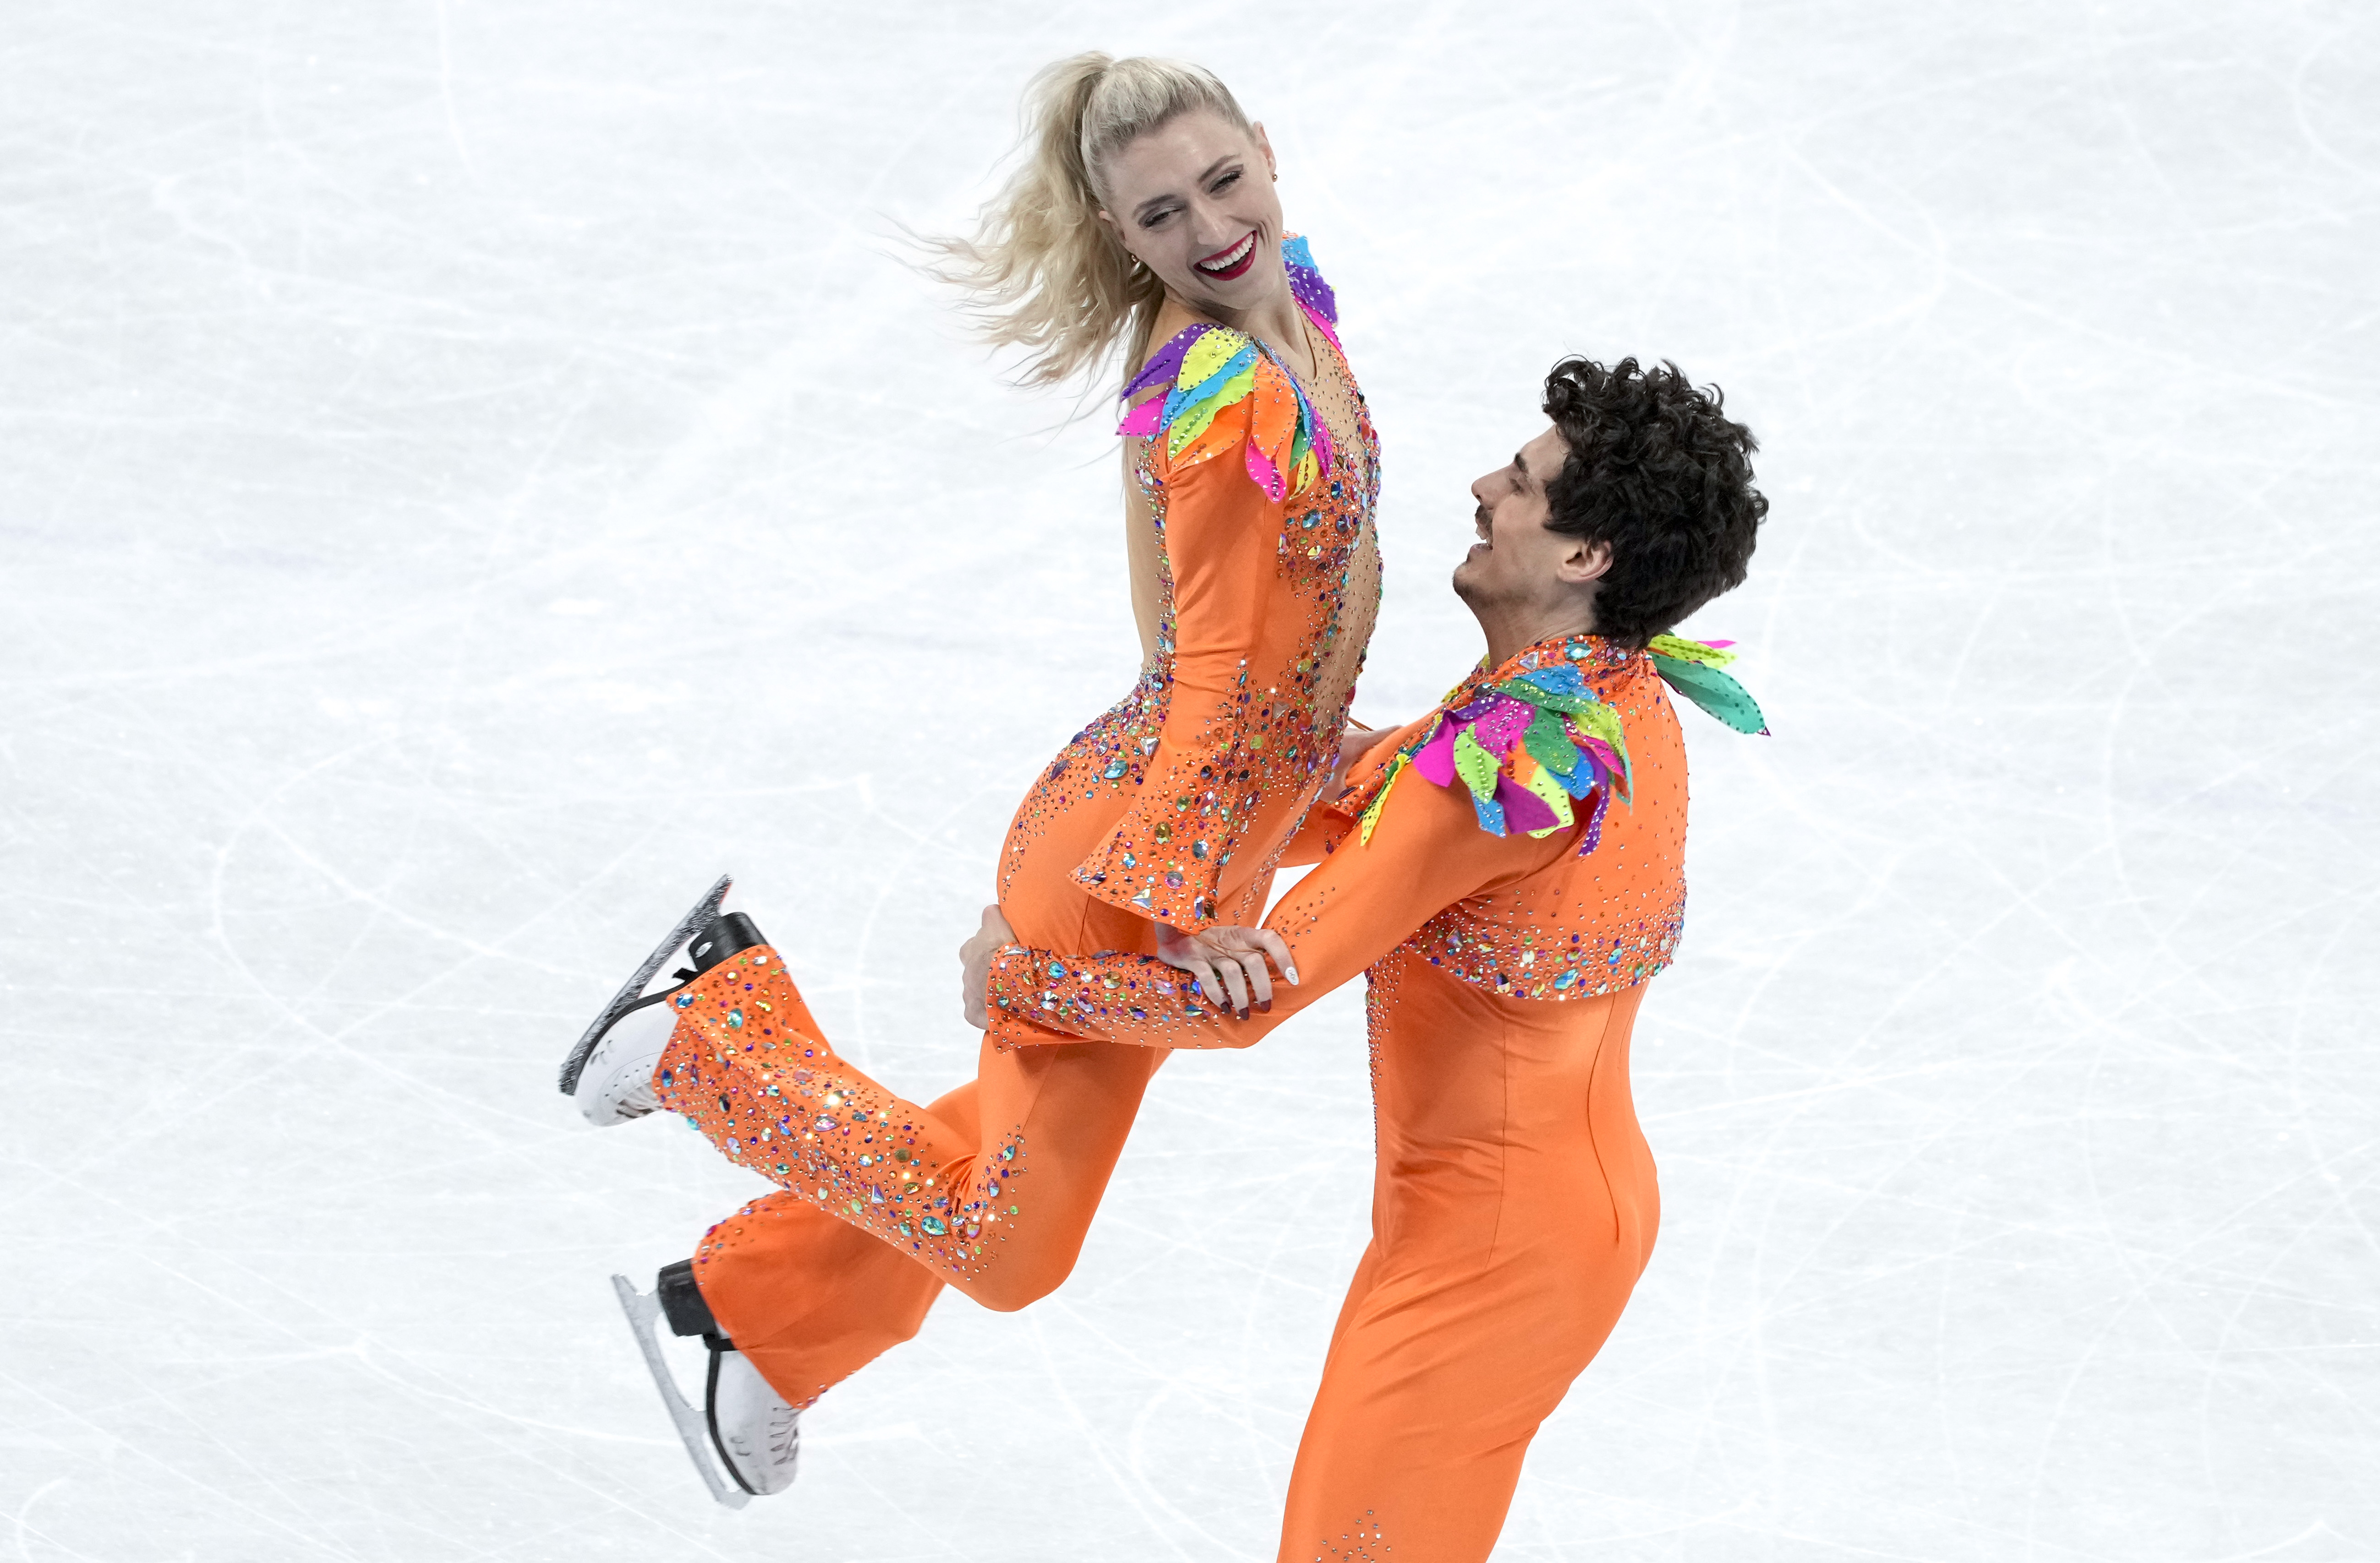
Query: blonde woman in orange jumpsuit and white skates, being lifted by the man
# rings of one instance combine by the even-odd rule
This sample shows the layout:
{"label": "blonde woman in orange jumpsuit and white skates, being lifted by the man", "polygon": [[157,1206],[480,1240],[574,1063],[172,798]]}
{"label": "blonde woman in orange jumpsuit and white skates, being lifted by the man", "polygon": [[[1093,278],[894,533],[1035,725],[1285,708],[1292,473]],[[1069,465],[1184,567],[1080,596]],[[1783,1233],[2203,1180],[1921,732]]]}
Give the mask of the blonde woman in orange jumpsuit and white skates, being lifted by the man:
{"label": "blonde woman in orange jumpsuit and white skates, being lifted by the man", "polygon": [[[1033,383],[1116,347],[1138,369],[1121,433],[1145,664],[1026,792],[997,899],[1040,949],[1195,956],[1202,930],[1261,918],[1338,768],[1380,600],[1378,445],[1330,288],[1283,233],[1273,150],[1221,81],[1076,55],[1028,112],[1028,164],[973,240],[942,245],[945,276],[1028,350]],[[985,1040],[971,1082],[914,1104],[835,1056],[790,985],[752,983],[774,954],[724,895],[621,987],[562,1090],[595,1123],[702,1106],[714,1144],[781,1185],[652,1294],[614,1278],[688,1454],[740,1506],[793,1480],[797,1411],[914,1335],[945,1285],[1021,1308],[1066,1278],[1166,1054]],[[721,963],[752,971],[714,975],[695,1011]],[[712,1344],[704,1416],[662,1368],[664,1313]]]}

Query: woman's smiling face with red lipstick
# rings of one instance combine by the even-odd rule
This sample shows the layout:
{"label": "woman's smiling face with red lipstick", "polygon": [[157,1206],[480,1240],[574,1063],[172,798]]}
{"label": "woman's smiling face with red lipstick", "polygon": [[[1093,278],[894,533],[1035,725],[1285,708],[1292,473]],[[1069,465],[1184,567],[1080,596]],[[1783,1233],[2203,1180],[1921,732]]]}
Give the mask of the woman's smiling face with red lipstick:
{"label": "woman's smiling face with red lipstick", "polygon": [[1176,114],[1100,167],[1100,219],[1180,302],[1238,316],[1290,285],[1264,126]]}

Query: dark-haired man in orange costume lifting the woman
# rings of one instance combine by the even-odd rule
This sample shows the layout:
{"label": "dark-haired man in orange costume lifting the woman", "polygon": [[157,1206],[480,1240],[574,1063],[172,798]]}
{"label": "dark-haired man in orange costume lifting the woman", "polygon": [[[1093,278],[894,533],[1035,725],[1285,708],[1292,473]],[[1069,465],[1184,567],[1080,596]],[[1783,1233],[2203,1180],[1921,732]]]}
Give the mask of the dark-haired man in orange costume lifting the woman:
{"label": "dark-haired man in orange costume lifting the woman", "polygon": [[[1280,1561],[1485,1558],[1521,1456],[1652,1254],[1628,1090],[1645,983],[1685,914],[1685,749],[1664,683],[1740,730],[1726,652],[1666,630],[1745,578],[1749,431],[1676,369],[1564,362],[1552,428],[1480,478],[1454,571],[1488,657],[1316,811],[1323,854],[1200,966],[1009,944],[966,990],[1002,1042],[1247,1047],[1364,973],[1373,1237],[1297,1449]],[[1614,797],[1618,799],[1616,806]],[[978,980],[976,973],[983,973]]]}

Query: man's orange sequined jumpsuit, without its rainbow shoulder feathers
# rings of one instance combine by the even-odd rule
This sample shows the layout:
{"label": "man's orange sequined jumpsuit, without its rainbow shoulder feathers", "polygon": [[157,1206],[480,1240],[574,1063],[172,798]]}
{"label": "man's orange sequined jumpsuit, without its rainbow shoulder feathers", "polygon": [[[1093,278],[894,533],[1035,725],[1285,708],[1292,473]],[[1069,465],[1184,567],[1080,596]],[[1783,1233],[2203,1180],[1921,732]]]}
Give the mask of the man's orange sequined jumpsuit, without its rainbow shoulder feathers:
{"label": "man's orange sequined jumpsuit, without its rainbow shoulder feathers", "polygon": [[[1368,842],[1333,809],[1302,833],[1297,856],[1326,856],[1266,918],[1302,978],[1273,987],[1269,1016],[1202,1006],[1140,956],[1012,949],[992,971],[995,1037],[1169,1049],[1247,1047],[1368,978],[1373,1235],[1297,1446],[1280,1563],[1485,1558],[1537,1423],[1652,1254],[1661,1199],[1628,1037],[1685,914],[1685,747],[1652,661],[1587,635],[1483,668],[1447,707],[1554,657],[1618,711],[1633,759],[1630,802],[1590,854],[1585,821],[1488,835],[1461,785],[1407,773]],[[1352,797],[1378,773],[1359,766]]]}

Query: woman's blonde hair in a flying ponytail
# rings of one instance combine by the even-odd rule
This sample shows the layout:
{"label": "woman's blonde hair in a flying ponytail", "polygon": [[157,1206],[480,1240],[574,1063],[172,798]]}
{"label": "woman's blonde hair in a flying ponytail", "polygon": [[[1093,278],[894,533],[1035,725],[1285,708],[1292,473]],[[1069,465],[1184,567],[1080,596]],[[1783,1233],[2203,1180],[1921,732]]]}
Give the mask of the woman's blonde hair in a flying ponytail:
{"label": "woman's blonde hair in a flying ponytail", "polygon": [[1100,164],[1176,114],[1214,109],[1250,128],[1211,71],[1178,59],[1059,59],[1026,88],[1026,164],[976,219],[971,238],[935,238],[933,274],[966,288],[983,335],[1023,347],[1026,385],[1052,385],[1147,352],[1166,288],[1107,224]]}

